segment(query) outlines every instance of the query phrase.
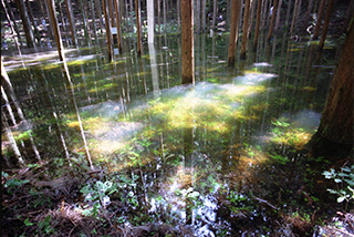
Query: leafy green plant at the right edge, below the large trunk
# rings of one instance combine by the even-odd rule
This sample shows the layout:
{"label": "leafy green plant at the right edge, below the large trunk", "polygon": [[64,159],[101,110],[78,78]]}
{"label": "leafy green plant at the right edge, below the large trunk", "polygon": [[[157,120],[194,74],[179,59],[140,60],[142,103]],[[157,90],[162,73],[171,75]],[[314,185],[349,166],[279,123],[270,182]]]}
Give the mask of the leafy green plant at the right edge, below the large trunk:
{"label": "leafy green plant at the right edge, below the large trunk", "polygon": [[325,178],[332,178],[336,184],[336,190],[327,188],[331,194],[339,195],[336,202],[343,203],[346,200],[345,210],[347,209],[348,203],[354,199],[354,165],[351,167],[344,166],[341,172],[335,172],[331,168],[330,172],[325,171],[322,173]]}

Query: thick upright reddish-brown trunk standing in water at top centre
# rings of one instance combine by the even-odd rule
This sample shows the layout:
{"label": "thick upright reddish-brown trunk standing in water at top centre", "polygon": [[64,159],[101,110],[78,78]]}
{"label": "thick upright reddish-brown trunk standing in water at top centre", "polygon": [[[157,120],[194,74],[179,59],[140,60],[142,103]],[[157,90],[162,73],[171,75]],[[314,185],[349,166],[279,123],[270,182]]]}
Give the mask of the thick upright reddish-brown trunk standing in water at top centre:
{"label": "thick upright reddish-brown trunk standing in water at top centre", "polygon": [[181,83],[195,83],[192,0],[180,1],[181,12]]}

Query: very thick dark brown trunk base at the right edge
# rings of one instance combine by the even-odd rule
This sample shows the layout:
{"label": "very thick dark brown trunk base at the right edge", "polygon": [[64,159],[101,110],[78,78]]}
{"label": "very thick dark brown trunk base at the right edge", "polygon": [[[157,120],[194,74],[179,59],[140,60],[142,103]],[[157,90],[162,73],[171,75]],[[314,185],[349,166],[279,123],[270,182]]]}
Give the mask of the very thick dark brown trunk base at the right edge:
{"label": "very thick dark brown trunk base at the right edge", "polygon": [[354,23],[346,34],[317,131],[323,137],[344,144],[354,144],[353,34]]}

